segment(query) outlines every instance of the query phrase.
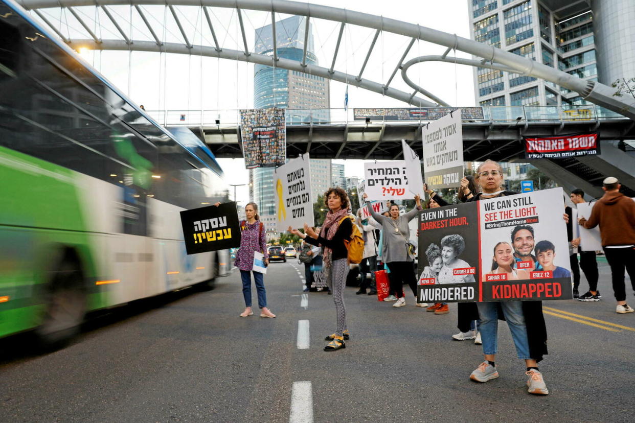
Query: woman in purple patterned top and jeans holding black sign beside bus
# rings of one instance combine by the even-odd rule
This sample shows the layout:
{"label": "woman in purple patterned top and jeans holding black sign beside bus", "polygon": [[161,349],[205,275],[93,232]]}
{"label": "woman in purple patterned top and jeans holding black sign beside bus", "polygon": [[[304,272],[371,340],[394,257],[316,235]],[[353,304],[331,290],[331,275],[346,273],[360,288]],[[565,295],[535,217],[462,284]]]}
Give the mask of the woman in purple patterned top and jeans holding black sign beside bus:
{"label": "woman in purple patterned top and jeans holding black sign beside bus", "polygon": [[[220,203],[216,203],[216,206]],[[253,315],[251,311],[251,276],[253,273],[253,281],[256,283],[258,292],[258,307],[260,317],[274,318],[276,315],[271,313],[267,308],[267,293],[265,292],[265,283],[262,273],[253,270],[254,252],[261,252],[264,255],[265,266],[269,265],[269,253],[267,252],[267,239],[265,238],[265,229],[263,223],[258,216],[258,206],[255,203],[248,203],[244,207],[246,221],[241,221],[241,242],[240,248],[236,252],[236,261],[234,265],[240,270],[241,280],[243,281],[243,297],[245,309],[240,314],[241,317]]]}

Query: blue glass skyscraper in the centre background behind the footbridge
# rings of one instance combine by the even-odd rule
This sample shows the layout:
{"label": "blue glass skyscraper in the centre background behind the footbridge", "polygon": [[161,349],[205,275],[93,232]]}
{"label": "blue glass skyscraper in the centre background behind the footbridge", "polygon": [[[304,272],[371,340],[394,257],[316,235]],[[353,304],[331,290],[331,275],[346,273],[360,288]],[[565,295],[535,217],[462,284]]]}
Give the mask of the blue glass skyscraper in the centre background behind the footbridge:
{"label": "blue glass skyscraper in the centre background behind the footbridge", "polygon": [[[306,18],[291,16],[276,22],[277,55],[302,62],[304,56]],[[265,25],[255,31],[254,52],[273,55],[273,25]],[[314,53],[312,23],[309,22],[306,63],[318,64]],[[286,108],[286,119],[292,122],[309,122],[329,119],[329,80],[264,65],[254,66],[253,105],[255,108]],[[317,110],[316,110],[317,109]],[[331,183],[330,160],[311,160],[312,193],[324,193]],[[315,169],[314,173],[313,169]],[[251,169],[250,200],[258,204],[260,216],[267,231],[276,231],[276,202],[274,169]]]}

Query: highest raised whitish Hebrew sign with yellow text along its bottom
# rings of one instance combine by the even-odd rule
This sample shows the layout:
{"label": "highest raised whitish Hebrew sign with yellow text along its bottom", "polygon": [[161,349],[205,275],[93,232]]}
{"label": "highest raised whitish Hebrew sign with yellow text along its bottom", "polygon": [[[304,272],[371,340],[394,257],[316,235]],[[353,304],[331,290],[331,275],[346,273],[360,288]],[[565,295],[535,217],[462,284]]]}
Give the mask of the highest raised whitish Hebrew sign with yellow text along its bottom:
{"label": "highest raised whitish Hebrew sign with yellow text along its bottom", "polygon": [[463,178],[461,110],[422,127],[425,183],[429,188],[456,188]]}

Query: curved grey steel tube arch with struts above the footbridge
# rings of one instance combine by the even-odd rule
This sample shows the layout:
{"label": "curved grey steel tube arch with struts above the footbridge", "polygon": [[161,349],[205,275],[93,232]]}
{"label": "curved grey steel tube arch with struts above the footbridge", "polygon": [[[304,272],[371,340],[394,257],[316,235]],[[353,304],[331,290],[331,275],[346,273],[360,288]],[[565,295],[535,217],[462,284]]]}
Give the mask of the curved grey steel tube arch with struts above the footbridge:
{"label": "curved grey steel tube arch with struts above the footbridge", "polygon": [[[516,72],[519,74],[525,74],[532,77],[537,77],[540,79],[544,79],[545,81],[553,82],[554,84],[558,84],[559,86],[570,89],[579,93],[586,100],[591,101],[597,105],[601,105],[610,110],[618,112],[620,114],[625,115],[631,119],[635,119],[635,99],[627,99],[623,100],[622,98],[615,98],[613,96],[614,90],[604,84],[599,84],[598,82],[593,81],[585,81],[583,79],[579,79],[573,75],[567,74],[561,70],[557,70],[555,68],[543,65],[542,63],[537,63],[530,58],[525,58],[522,56],[515,55],[514,53],[509,53],[508,51],[504,51],[502,49],[495,48],[493,46],[489,46],[487,44],[482,44],[480,42],[472,41],[470,39],[465,39],[462,37],[458,37],[455,34],[448,34],[443,31],[430,29],[427,27],[422,27],[420,25],[414,23],[402,22],[399,20],[384,18],[382,16],[370,15],[368,13],[361,13],[358,11],[350,11],[340,8],[332,8],[329,6],[320,6],[317,4],[308,4],[308,3],[298,3],[295,1],[287,1],[287,0],[17,0],[18,3],[22,4],[24,8],[27,10],[35,10],[36,13],[50,25],[51,29],[53,29],[58,36],[62,37],[65,42],[73,46],[74,48],[79,48],[80,46],[91,46],[93,49],[118,49],[118,50],[134,50],[134,51],[163,51],[168,53],[183,53],[183,54],[196,54],[202,56],[211,56],[218,58],[226,58],[231,60],[241,60],[244,62],[252,62],[259,63],[262,65],[276,66],[280,68],[286,68],[289,70],[297,70],[299,72],[311,73],[312,75],[318,75],[321,77],[325,77],[328,79],[333,79],[335,81],[346,82],[347,84],[351,84],[353,86],[358,86],[359,88],[368,89],[370,91],[375,91],[376,93],[382,93],[386,96],[396,98],[401,101],[405,101],[406,103],[410,103],[416,105],[418,107],[425,107],[434,105],[431,101],[424,100],[423,98],[415,96],[417,92],[428,96],[432,100],[436,101],[440,105],[446,105],[445,102],[436,98],[434,94],[425,91],[425,89],[418,87],[412,81],[408,79],[405,74],[405,71],[408,67],[413,65],[414,63],[424,62],[427,60],[447,60],[446,56],[452,49],[456,49],[458,51],[464,51],[465,53],[469,53],[473,56],[481,58],[481,60],[466,60],[457,59],[457,63],[472,65],[472,66],[485,66],[485,67],[493,67],[500,68],[501,70],[505,70],[507,72]],[[116,19],[109,13],[107,6],[112,5],[130,5],[135,6],[138,14],[144,20],[145,25],[149,29],[153,41],[137,41],[133,39],[128,39],[128,36],[121,30],[120,25],[117,23]],[[171,15],[174,17],[175,22],[180,29],[182,34],[184,43],[162,43],[159,38],[156,36],[156,33],[152,29],[150,23],[147,18],[145,18],[144,13],[140,5],[161,5],[167,6],[170,8]],[[112,23],[117,27],[119,33],[121,34],[121,40],[104,40],[98,39],[98,37],[90,30],[90,27],[86,25],[86,23],[81,20],[79,15],[73,10],[76,6],[95,6],[99,7],[106,15],[110,18]],[[240,27],[241,27],[241,35],[243,37],[244,51],[237,51],[231,49],[225,49],[218,44],[217,37],[215,35],[214,29],[211,26],[211,22],[208,19],[208,24],[210,25],[210,31],[215,40],[215,46],[195,46],[190,43],[189,39],[187,39],[187,35],[183,30],[181,23],[178,20],[178,15],[174,11],[173,6],[196,6],[203,8],[203,11],[207,15],[206,7],[220,7],[220,8],[233,8],[237,11],[237,16],[239,18]],[[83,40],[69,40],[64,35],[59,32],[59,30],[52,25],[44,15],[42,15],[38,9],[44,8],[67,8],[72,15],[75,16],[77,21],[84,27],[86,32],[90,34],[91,39],[83,39]],[[333,62],[331,63],[330,68],[318,67],[316,65],[311,65],[306,63],[306,49],[305,55],[302,62],[287,60],[284,58],[280,58],[277,56],[277,51],[274,46],[274,51],[272,56],[260,55],[257,53],[253,53],[250,51],[247,45],[246,36],[244,33],[244,25],[241,17],[241,10],[257,10],[257,11],[266,11],[272,13],[272,25],[275,25],[275,13],[285,13],[288,15],[300,15],[307,16],[307,18],[319,18],[324,20],[331,20],[334,22],[341,22],[340,32],[338,36],[337,47],[335,48],[335,52],[333,53]],[[307,19],[307,25],[309,22]],[[359,71],[358,75],[346,74],[344,72],[339,72],[334,69],[335,60],[337,58],[338,48],[340,46],[340,41],[342,39],[342,33],[344,31],[344,25],[358,25],[360,27],[366,27],[370,29],[375,29],[375,37],[373,42],[371,42],[370,49],[366,54],[366,60],[364,60],[364,64]],[[373,51],[375,46],[375,41],[377,41],[377,37],[380,32],[391,32],[392,34],[398,34],[405,37],[410,37],[411,42],[408,44],[408,48],[404,51],[403,56],[401,56],[401,60],[398,65],[392,72],[392,75],[385,84],[379,82],[368,81],[367,79],[363,79],[361,76],[363,75],[364,68],[366,67],[366,63],[368,63],[368,59]],[[274,31],[275,32],[275,31]],[[415,58],[410,60],[406,65],[403,65],[403,60],[410,51],[413,42],[416,40],[432,42],[434,44],[438,44],[440,46],[445,46],[447,48],[446,52],[442,56],[432,57],[425,56],[422,58]],[[454,62],[454,60],[453,60]],[[403,77],[404,81],[408,83],[411,88],[414,88],[415,91],[411,94],[405,93],[404,91],[390,88],[390,84],[395,74],[398,72],[400,68],[403,68]]]}

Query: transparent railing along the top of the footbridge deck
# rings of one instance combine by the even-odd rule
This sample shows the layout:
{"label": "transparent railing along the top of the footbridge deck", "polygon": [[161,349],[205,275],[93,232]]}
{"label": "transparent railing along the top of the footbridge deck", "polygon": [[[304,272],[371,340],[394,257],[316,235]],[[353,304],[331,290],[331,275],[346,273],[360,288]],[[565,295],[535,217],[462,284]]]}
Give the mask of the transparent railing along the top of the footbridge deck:
{"label": "transparent railing along the top of the footbridge deck", "polygon": [[[580,120],[628,119],[623,115],[596,105],[563,106],[491,106],[482,107],[483,119],[464,119],[467,122],[570,122]],[[293,125],[366,125],[390,123],[391,125],[429,122],[426,119],[394,120],[387,115],[373,115],[370,122],[354,119],[353,109],[286,109],[287,126]],[[164,126],[218,126],[236,127],[240,121],[239,110],[147,110],[153,119]]]}

